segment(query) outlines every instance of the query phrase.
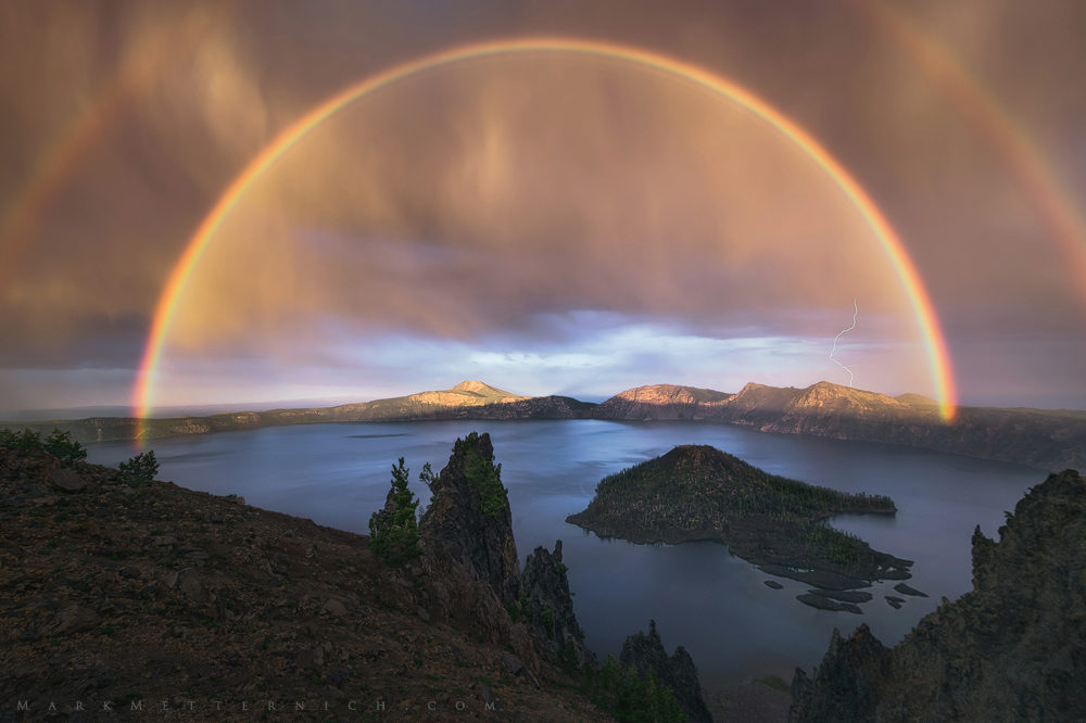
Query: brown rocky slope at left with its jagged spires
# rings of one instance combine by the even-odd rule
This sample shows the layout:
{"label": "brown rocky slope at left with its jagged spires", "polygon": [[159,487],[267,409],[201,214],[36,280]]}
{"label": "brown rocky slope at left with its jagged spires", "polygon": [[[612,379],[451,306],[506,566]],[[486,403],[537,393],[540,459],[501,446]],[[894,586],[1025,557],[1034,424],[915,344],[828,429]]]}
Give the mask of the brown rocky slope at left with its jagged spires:
{"label": "brown rocky slope at left with its jagged spires", "polygon": [[648,668],[584,648],[560,543],[519,569],[471,455],[496,470],[457,441],[393,568],[363,535],[0,446],[0,720],[682,720],[658,636]]}

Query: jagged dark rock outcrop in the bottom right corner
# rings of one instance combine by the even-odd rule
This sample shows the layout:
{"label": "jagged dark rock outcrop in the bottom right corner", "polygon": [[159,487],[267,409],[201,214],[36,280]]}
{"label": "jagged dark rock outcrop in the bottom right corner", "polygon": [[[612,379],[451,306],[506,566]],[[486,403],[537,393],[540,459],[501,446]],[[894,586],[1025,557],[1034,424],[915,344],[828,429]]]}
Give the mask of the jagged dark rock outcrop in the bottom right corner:
{"label": "jagged dark rock outcrop in the bottom right corner", "polygon": [[1086,479],[1033,487],[999,542],[973,533],[974,589],[894,648],[866,626],[797,671],[792,721],[1064,721],[1086,716]]}

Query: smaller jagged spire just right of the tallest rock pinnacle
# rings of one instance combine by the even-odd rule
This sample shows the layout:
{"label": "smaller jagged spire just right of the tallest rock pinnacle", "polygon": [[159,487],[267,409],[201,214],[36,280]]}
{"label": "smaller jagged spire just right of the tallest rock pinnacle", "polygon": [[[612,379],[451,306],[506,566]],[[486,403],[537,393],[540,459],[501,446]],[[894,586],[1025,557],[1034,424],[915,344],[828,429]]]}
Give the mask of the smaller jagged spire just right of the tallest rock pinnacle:
{"label": "smaller jagged spire just right of the tallest rock pinnacle", "polygon": [[594,665],[595,656],[584,647],[584,631],[573,613],[560,540],[555,541],[554,553],[536,547],[528,556],[520,591],[519,617],[538,638],[550,644],[558,662],[570,670]]}

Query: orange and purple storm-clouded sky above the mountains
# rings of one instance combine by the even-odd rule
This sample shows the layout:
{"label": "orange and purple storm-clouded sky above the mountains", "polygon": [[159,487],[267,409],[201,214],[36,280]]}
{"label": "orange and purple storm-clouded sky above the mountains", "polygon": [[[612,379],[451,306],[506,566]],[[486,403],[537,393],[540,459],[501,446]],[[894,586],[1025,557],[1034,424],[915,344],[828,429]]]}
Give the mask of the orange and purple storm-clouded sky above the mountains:
{"label": "orange and purple storm-clouded sky above the mountains", "polygon": [[[1084,36],[1077,0],[2,3],[0,413],[464,379],[1086,408]],[[292,124],[479,43],[298,135],[169,291]]]}

